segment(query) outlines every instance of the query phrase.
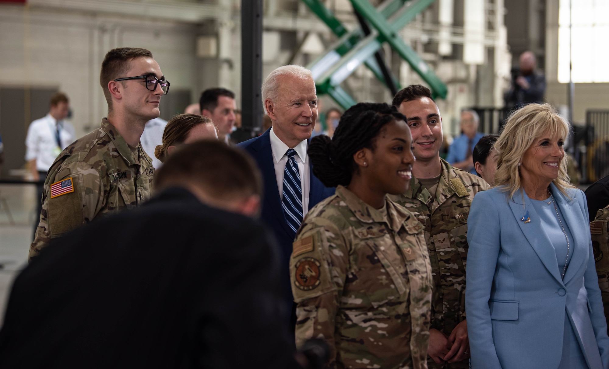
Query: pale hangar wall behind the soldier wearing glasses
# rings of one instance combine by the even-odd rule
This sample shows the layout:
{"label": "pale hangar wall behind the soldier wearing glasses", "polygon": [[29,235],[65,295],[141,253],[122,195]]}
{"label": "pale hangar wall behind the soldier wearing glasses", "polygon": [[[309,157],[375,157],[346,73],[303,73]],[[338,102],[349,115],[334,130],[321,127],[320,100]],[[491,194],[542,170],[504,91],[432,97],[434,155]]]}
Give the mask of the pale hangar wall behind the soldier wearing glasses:
{"label": "pale hangar wall behind the soldier wearing glasses", "polygon": [[172,89],[198,96],[199,85],[205,83],[195,58],[197,27],[191,24],[0,5],[0,34],[0,83],[65,91],[77,136],[106,116],[99,71],[113,47],[152,51]]}

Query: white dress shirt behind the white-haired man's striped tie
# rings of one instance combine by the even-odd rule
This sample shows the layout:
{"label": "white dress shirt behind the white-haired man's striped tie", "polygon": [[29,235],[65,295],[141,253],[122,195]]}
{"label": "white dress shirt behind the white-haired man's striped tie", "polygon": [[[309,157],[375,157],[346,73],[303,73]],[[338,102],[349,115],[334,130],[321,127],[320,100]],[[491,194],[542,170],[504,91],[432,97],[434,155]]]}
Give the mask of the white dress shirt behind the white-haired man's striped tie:
{"label": "white dress shirt behind the white-haired man's striped tie", "polygon": [[[287,155],[289,149],[286,144],[281,141],[270,128],[270,148],[273,151],[273,166],[275,166],[275,177],[277,179],[277,189],[279,190],[280,201],[283,201],[283,173],[286,170]],[[296,164],[300,172],[300,188],[303,192],[303,217],[309,211],[309,155],[306,153],[307,140],[300,142],[294,150],[296,155]]]}

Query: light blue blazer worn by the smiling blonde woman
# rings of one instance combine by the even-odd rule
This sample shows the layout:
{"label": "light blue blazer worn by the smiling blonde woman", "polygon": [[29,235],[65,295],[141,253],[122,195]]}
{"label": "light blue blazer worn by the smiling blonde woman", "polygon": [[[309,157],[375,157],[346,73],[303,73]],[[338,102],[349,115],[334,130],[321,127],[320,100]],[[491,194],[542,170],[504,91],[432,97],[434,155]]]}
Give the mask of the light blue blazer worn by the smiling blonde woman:
{"label": "light blue blazer worn by the smiling blonde woman", "polygon": [[[586,197],[569,189],[569,199],[551,188],[574,238],[564,281],[526,193],[524,201],[520,191],[507,201],[505,192],[493,188],[478,192],[471,203],[465,310],[473,369],[557,368],[565,312],[590,368],[609,368]],[[527,211],[530,222],[524,223]]]}

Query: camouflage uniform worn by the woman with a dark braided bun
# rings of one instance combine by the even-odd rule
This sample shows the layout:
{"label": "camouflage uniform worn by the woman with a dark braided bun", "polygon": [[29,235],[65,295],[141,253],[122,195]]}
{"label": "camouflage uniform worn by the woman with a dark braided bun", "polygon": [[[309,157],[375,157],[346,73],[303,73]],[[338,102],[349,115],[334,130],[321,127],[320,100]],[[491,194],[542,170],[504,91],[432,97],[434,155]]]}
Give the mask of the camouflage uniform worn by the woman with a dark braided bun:
{"label": "camouflage uniform worn by the woman with a dark braided bun", "polygon": [[374,209],[338,186],[300,227],[290,278],[296,344],[325,339],[330,368],[427,368],[431,266],[403,207]]}

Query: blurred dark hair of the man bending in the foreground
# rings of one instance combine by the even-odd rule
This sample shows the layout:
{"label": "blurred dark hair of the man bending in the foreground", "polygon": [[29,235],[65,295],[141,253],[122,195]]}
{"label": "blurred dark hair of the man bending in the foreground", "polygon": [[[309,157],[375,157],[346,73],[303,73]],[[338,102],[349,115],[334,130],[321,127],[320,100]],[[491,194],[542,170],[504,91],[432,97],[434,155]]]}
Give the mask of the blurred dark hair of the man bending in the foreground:
{"label": "blurred dark hair of the man bending in the foreground", "polygon": [[155,187],[193,183],[220,200],[258,195],[262,177],[243,150],[217,139],[204,139],[177,149],[155,174]]}

